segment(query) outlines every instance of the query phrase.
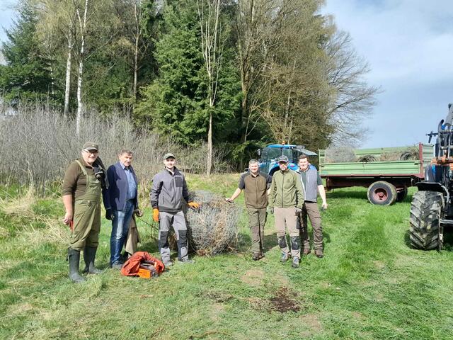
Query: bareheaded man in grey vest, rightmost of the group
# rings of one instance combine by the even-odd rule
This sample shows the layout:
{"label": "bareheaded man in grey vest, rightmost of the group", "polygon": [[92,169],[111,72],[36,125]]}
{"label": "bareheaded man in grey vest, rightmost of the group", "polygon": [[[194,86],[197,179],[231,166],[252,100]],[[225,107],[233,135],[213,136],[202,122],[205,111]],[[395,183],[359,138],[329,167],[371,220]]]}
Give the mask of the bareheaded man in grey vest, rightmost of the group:
{"label": "bareheaded man in grey vest, rightmost of the group", "polygon": [[323,181],[319,176],[318,170],[314,165],[309,163],[306,154],[299,156],[299,171],[301,175],[302,186],[304,188],[305,202],[302,212],[299,214],[301,224],[302,242],[304,245],[304,255],[310,254],[310,237],[308,232],[308,220],[310,219],[313,228],[314,254],[320,259],[323,254],[323,229],[321,227],[321,215],[318,208],[318,193],[323,200],[322,208],[327,209],[326,191],[324,190]]}

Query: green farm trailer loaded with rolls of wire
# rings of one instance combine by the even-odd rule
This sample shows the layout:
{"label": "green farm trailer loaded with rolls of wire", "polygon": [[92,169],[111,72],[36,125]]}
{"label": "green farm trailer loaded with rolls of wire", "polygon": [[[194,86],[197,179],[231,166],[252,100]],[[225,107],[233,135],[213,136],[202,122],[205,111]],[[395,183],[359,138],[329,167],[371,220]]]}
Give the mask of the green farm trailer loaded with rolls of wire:
{"label": "green farm trailer loaded with rolls of wire", "polygon": [[[353,152],[359,161],[366,162],[329,162],[326,150],[319,150],[319,172],[321,178],[326,179],[326,189],[364,186],[368,188],[369,202],[378,205],[403,200],[408,187],[423,181],[425,166],[430,164],[434,154],[433,145],[422,143],[413,147],[355,149]],[[399,157],[382,160],[391,159],[389,155]]]}

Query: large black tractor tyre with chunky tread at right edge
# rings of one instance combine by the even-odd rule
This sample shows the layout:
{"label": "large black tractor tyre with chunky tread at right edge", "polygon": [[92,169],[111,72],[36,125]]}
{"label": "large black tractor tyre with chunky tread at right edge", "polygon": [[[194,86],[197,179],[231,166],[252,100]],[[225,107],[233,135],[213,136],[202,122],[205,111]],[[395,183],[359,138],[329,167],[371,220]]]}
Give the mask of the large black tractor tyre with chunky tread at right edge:
{"label": "large black tractor tyre with chunky tread at right edge", "polygon": [[418,191],[412,198],[409,238],[415,249],[442,248],[440,217],[444,208],[442,193]]}

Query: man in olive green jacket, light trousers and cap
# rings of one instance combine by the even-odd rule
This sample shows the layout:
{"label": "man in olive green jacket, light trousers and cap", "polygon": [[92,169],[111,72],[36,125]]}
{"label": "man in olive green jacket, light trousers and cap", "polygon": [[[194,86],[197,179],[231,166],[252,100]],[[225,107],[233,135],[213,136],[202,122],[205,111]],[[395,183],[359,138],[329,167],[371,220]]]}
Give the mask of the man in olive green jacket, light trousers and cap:
{"label": "man in olive green jacket, light trousers and cap", "polygon": [[[270,213],[275,212],[275,228],[277,239],[282,251],[281,262],[286,262],[292,256],[292,267],[299,267],[300,239],[297,229],[297,215],[304,206],[304,189],[300,175],[288,169],[288,157],[277,159],[280,170],[275,171],[269,193]],[[291,239],[291,253],[286,241],[286,229]]]}

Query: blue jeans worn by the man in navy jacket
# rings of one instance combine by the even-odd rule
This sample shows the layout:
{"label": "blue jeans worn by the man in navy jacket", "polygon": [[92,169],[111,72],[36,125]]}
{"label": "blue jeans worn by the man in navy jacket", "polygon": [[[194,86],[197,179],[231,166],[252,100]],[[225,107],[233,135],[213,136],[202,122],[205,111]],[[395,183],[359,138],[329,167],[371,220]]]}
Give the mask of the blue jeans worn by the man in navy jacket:
{"label": "blue jeans worn by the man in navy jacket", "polygon": [[132,200],[127,200],[125,210],[113,210],[115,217],[112,221],[112,234],[110,235],[110,265],[120,262],[122,247],[127,239],[133,212]]}

